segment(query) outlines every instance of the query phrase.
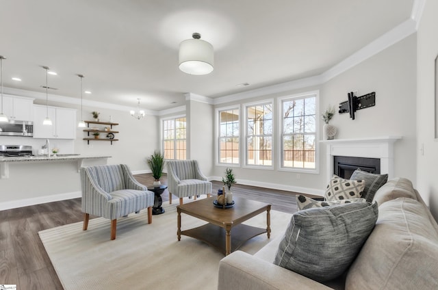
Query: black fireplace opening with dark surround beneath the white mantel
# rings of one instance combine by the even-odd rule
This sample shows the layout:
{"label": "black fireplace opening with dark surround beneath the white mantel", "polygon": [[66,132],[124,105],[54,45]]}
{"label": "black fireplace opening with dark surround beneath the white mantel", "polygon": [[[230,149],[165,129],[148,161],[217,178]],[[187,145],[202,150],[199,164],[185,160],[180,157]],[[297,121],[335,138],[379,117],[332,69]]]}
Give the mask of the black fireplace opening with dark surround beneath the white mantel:
{"label": "black fireplace opening with dark surround beneath the white mantel", "polygon": [[343,179],[350,179],[355,170],[381,173],[380,158],[350,157],[350,156],[333,156],[333,173]]}

